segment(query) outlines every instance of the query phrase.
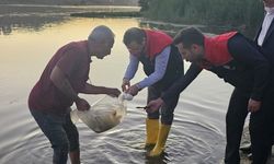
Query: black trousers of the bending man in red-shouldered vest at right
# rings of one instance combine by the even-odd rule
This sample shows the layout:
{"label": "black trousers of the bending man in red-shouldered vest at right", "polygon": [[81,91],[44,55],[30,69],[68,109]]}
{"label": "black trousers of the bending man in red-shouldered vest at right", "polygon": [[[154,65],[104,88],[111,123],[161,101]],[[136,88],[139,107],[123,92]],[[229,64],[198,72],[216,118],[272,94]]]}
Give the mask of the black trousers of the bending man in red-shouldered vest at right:
{"label": "black trousers of the bending man in red-shouldered vest at right", "polygon": [[[240,155],[239,148],[244,126],[244,120],[248,115],[248,102],[250,94],[235,89],[230,97],[228,112],[226,116],[226,164],[239,164]],[[269,99],[267,99],[269,98]],[[271,149],[271,96],[266,96],[259,112],[252,113],[250,116],[250,136],[252,144],[252,164],[265,164],[267,153]],[[267,118],[269,117],[269,118]]]}

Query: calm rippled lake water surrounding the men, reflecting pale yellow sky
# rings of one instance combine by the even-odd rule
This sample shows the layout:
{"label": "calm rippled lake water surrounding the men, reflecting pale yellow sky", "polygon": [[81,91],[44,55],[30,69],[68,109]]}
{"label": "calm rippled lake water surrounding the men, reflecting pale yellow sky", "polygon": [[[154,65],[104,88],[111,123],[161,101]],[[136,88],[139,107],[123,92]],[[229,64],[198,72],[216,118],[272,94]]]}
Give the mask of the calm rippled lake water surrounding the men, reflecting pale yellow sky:
{"label": "calm rippled lake water surrounding the men, reflecting pale yellow sky", "polygon": [[[28,17],[30,16],[30,17]],[[3,21],[0,16],[0,163],[50,164],[53,150],[27,108],[27,96],[52,55],[64,44],[85,39],[96,25],[115,33],[112,55],[93,59],[90,79],[95,85],[119,87],[128,61],[122,37],[138,19],[39,17],[32,15]],[[19,19],[20,20],[20,19]],[[186,68],[189,65],[186,65]],[[141,69],[141,67],[140,67]],[[139,69],[137,82],[144,78]],[[146,159],[146,90],[127,103],[128,113],[116,128],[95,133],[79,122],[83,164],[217,164],[225,152],[225,114],[232,87],[216,75],[203,72],[181,94],[174,122],[161,159]],[[95,102],[103,95],[82,95]]]}

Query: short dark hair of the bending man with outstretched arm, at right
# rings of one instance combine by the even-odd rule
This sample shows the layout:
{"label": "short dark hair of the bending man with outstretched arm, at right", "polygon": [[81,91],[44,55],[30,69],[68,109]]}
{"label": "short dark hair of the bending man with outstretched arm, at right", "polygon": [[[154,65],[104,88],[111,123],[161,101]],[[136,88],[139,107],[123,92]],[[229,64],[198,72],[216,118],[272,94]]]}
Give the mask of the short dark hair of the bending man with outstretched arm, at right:
{"label": "short dark hair of the bending man with outstretched arm, at right", "polygon": [[184,47],[190,48],[191,45],[196,44],[204,46],[204,34],[195,27],[186,27],[181,30],[173,38],[173,44],[182,43]]}

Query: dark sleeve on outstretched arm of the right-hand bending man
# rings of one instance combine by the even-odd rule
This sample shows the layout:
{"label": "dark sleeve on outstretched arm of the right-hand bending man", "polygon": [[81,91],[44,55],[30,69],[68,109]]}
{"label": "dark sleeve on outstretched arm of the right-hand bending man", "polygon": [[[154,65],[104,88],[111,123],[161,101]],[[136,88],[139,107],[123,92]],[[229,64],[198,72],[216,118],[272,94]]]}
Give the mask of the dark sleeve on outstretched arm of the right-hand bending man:
{"label": "dark sleeve on outstretched arm of the right-hand bending man", "polygon": [[187,87],[192,81],[199,74],[203,69],[196,63],[192,63],[186,71],[185,75],[178,79],[161,96],[163,102],[169,98],[179,95],[185,87]]}

